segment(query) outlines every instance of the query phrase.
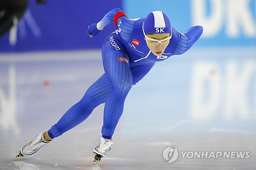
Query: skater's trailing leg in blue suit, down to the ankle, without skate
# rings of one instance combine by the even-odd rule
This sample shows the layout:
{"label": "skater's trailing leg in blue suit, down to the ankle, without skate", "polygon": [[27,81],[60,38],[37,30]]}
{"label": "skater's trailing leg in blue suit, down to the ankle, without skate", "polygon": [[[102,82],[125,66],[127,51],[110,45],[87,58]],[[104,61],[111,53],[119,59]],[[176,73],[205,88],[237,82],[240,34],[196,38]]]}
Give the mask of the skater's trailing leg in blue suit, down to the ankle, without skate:
{"label": "skater's trailing leg in blue suit, down to the ankle, without skate", "polygon": [[103,74],[89,89],[83,98],[72,106],[48,131],[49,137],[54,139],[64,132],[83,122],[98,105],[105,103],[112,90],[109,79]]}

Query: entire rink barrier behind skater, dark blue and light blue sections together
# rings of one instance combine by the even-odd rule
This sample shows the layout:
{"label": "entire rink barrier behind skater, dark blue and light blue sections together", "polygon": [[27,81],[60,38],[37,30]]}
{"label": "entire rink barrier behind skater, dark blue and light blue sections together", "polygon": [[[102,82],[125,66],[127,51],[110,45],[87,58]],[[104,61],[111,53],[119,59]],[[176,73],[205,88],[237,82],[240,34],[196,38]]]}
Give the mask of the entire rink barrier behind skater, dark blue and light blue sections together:
{"label": "entire rink barrier behind skater, dark blue and light blue sections together", "polygon": [[[203,26],[203,35],[194,46],[256,45],[255,0],[65,0],[61,1],[61,8],[59,3],[48,1],[38,6],[30,1],[17,34],[6,34],[0,39],[0,53],[101,48],[106,36],[115,31],[115,25],[105,27],[94,38],[87,35],[87,28],[117,7],[129,18],[146,17],[151,11],[161,10],[182,33],[191,26]],[[9,40],[15,36],[15,42]]]}

